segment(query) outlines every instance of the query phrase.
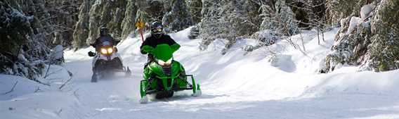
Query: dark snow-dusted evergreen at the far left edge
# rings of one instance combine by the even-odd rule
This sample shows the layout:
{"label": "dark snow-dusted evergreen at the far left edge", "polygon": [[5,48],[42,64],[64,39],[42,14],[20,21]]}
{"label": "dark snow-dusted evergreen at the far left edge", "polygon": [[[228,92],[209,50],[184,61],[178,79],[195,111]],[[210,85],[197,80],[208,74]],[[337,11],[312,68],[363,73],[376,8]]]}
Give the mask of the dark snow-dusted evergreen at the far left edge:
{"label": "dark snow-dusted evergreen at the far left edge", "polygon": [[48,61],[48,39],[32,15],[0,1],[0,73],[37,80]]}

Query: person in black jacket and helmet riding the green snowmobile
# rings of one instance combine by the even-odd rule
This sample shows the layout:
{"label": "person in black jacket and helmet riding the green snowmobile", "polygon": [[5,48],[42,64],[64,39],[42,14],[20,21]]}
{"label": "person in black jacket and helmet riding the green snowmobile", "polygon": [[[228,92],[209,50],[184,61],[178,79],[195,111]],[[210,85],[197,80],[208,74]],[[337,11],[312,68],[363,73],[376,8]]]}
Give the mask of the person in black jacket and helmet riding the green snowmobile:
{"label": "person in black jacket and helmet riding the green snowmobile", "polygon": [[[152,46],[156,47],[158,44],[169,44],[169,46],[177,44],[174,39],[172,39],[169,35],[164,34],[164,27],[162,26],[161,22],[154,22],[150,26],[151,29],[151,36],[145,38],[143,44],[140,46],[141,54],[148,54],[147,52],[143,51],[143,46]],[[154,61],[154,56],[152,54],[148,54],[148,62],[145,63],[144,68]]]}

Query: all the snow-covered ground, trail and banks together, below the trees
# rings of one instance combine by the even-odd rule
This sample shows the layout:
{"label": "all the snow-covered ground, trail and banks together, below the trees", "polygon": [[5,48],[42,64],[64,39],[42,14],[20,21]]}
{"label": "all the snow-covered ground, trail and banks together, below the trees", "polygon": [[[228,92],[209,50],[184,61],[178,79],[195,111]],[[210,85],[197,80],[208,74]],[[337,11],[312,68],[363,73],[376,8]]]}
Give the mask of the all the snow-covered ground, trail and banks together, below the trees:
{"label": "all the snow-covered ground, trail and banks together, below the trees", "polygon": [[[171,37],[181,44],[175,59],[195,75],[202,96],[180,92],[169,99],[139,104],[139,82],[146,56],[139,52],[140,39],[119,44],[131,77],[115,77],[91,83],[88,51],[66,51],[64,67],[51,67],[51,87],[22,77],[0,75],[0,117],[13,118],[399,118],[399,70],[384,73],[355,72],[343,66],[318,74],[333,44],[337,28],[325,32],[318,44],[314,31],[292,37],[294,46],[279,42],[246,53],[253,39],[239,41],[220,54],[225,41],[218,39],[207,51],[199,51],[200,39],[190,40],[183,30]],[[301,40],[303,39],[303,40]],[[299,48],[300,47],[300,48]],[[272,54],[273,53],[273,54]],[[55,79],[55,80],[54,80]],[[57,80],[58,79],[58,80]],[[10,91],[16,83],[13,92]],[[65,87],[59,87],[67,82]]]}

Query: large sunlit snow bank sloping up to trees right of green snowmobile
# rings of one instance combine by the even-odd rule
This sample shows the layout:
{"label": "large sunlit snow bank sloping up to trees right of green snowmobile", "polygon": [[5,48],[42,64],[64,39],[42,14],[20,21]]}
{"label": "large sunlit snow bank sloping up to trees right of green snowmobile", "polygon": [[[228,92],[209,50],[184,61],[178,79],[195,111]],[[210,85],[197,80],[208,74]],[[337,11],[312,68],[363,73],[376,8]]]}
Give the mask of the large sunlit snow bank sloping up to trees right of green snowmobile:
{"label": "large sunlit snow bank sloping up to trees right of green snowmobile", "polygon": [[[196,49],[198,41],[178,39],[182,49],[175,57],[185,65],[188,73],[194,73],[202,82],[204,94],[225,94],[229,98],[237,98],[235,101],[397,93],[398,88],[393,86],[398,84],[395,81],[398,71],[357,73],[356,68],[344,65],[333,73],[318,74],[320,63],[328,54],[337,31],[335,28],[325,32],[325,41],[321,41],[320,45],[315,32],[293,36],[296,44],[303,42],[305,49],[302,51],[283,40],[247,54],[243,47],[252,44],[251,39],[247,39],[237,42],[224,56],[218,54],[225,44],[221,39],[210,44],[207,51]],[[172,37],[176,35],[185,34],[177,33]],[[270,51],[278,54],[270,54]]]}

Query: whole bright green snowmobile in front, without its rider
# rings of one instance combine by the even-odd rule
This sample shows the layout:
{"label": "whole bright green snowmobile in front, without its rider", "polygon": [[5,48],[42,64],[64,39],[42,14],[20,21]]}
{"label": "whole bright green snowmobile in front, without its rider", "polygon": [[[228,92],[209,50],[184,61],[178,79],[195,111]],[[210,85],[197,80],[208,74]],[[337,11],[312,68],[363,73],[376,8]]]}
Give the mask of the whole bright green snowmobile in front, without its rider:
{"label": "whole bright green snowmobile in front, without its rider", "polygon": [[[144,80],[140,82],[141,104],[148,102],[147,94],[156,94],[156,99],[162,99],[173,96],[174,92],[192,89],[192,96],[201,95],[194,77],[186,75],[183,65],[174,61],[173,54],[179,48],[178,44],[158,44],[155,48],[143,46],[142,51],[152,54],[154,61],[144,68]],[[192,83],[187,81],[188,77]]]}

